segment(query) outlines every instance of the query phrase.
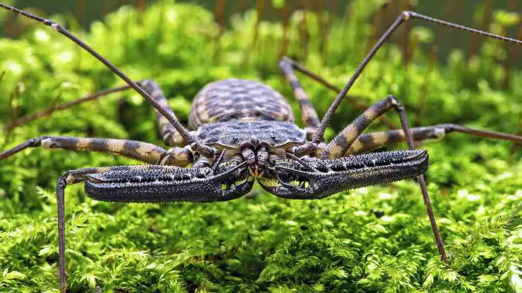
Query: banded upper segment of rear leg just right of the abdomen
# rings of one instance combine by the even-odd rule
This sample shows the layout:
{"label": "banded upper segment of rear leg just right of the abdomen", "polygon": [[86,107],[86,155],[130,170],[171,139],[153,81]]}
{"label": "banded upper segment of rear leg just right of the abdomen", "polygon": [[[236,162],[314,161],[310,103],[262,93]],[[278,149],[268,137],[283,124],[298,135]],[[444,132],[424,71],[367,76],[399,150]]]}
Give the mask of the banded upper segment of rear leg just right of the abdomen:
{"label": "banded upper segment of rear leg just right of the abdomen", "polygon": [[299,107],[301,109],[301,120],[305,126],[307,136],[311,138],[317,131],[319,126],[319,118],[315,112],[314,106],[310,103],[310,99],[304,92],[301,84],[297,80],[292,68],[292,60],[288,57],[283,57],[279,61],[279,67],[283,71],[284,76],[290,82],[290,86],[294,90],[295,98],[299,101]]}

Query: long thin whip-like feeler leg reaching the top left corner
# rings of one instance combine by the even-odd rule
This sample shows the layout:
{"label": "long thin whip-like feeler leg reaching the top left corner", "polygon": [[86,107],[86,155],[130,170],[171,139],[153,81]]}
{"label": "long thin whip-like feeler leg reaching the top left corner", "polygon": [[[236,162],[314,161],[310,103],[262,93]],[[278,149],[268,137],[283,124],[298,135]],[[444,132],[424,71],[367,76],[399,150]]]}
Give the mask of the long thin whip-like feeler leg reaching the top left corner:
{"label": "long thin whip-like feeler leg reaching the top left corner", "polygon": [[201,154],[207,156],[207,157],[213,157],[217,150],[215,148],[211,148],[210,146],[205,145],[204,143],[199,142],[191,133],[186,129],[183,125],[181,125],[180,121],[177,120],[177,118],[172,114],[172,112],[169,112],[168,109],[165,109],[162,107],[158,102],[156,102],[146,91],[144,91],[142,88],[138,86],[137,83],[132,81],[130,78],[128,78],[125,74],[123,74],[122,71],[117,69],[112,63],[109,62],[109,60],[102,57],[98,52],[94,51],[90,46],[88,46],[85,42],[78,39],[75,35],[70,33],[68,30],[66,30],[61,25],[58,25],[56,22],[45,19],[42,17],[39,17],[37,15],[30,14],[26,11],[20,10],[18,8],[0,3],[0,7],[3,7],[5,9],[14,11],[22,16],[37,20],[42,22],[44,25],[51,27],[53,30],[65,35],[68,39],[72,40],[76,44],[78,44],[80,47],[84,48],[89,54],[94,56],[96,59],[100,60],[101,63],[103,63],[106,67],[111,69],[112,72],[114,72],[118,77],[123,79],[131,88],[136,90],[141,96],[143,96],[153,107],[156,108],[156,110],[167,119],[172,126],[180,133],[180,135],[185,139],[187,144],[193,144],[194,149],[196,149]]}

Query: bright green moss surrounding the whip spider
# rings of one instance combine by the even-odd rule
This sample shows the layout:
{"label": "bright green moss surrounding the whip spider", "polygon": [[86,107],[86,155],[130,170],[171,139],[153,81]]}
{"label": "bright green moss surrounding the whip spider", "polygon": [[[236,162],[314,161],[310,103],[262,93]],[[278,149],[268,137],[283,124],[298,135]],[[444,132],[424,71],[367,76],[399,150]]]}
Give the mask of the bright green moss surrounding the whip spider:
{"label": "bright green moss surrounding the whip spider", "polygon": [[[7,1],[9,2],[9,1]],[[184,122],[206,83],[262,80],[298,104],[280,76],[288,54],[341,87],[375,41],[381,0],[354,1],[348,18],[298,10],[284,22],[257,21],[256,11],[221,28],[212,11],[160,1],[123,6],[88,32],[70,15],[52,19],[135,80],[155,79]],[[8,14],[1,11],[0,18]],[[513,18],[516,17],[516,20]],[[496,11],[503,32],[519,16]],[[19,40],[0,40],[0,123],[123,84],[75,44],[19,19]],[[387,94],[404,102],[412,125],[459,123],[520,133],[522,75],[506,68],[503,43],[486,40],[476,55],[460,50],[440,65],[418,50],[444,38],[420,23],[403,47],[385,46],[350,91],[371,104]],[[399,32],[400,33],[400,32]],[[404,33],[404,31],[403,31]],[[452,32],[460,33],[462,32]],[[377,35],[378,37],[378,35]],[[342,40],[342,41],[339,41]],[[285,45],[287,47],[285,47]],[[428,50],[435,51],[435,49]],[[407,65],[405,65],[405,63]],[[509,72],[509,74],[508,74]],[[321,116],[335,93],[301,78]],[[359,114],[343,103],[328,138]],[[386,117],[398,124],[395,113]],[[376,123],[371,128],[384,129]],[[517,130],[518,129],[518,130]],[[2,149],[39,135],[129,138],[163,145],[153,111],[127,91],[51,118],[2,131]],[[397,148],[404,147],[402,145]],[[419,188],[413,180],[344,192],[320,201],[255,198],[213,204],[111,204],[66,190],[70,292],[522,292],[522,162],[511,143],[449,135],[422,146],[438,224],[452,264],[438,259]],[[30,149],[0,164],[0,291],[57,291],[55,182],[66,170],[135,163],[96,153]]]}

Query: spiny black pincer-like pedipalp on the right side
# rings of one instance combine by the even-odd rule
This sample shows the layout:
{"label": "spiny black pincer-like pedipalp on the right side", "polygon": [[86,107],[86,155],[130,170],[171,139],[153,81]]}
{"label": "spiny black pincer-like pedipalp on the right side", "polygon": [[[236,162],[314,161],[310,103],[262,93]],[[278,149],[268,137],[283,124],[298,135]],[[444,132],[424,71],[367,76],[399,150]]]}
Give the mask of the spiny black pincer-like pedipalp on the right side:
{"label": "spiny black pincer-like pedipalp on the right side", "polygon": [[[268,192],[289,199],[324,198],[348,189],[415,177],[428,169],[428,152],[423,150],[370,153],[311,163],[289,157],[291,160],[275,165],[274,177],[280,186],[262,185]],[[300,182],[299,186],[289,183],[294,181]]]}

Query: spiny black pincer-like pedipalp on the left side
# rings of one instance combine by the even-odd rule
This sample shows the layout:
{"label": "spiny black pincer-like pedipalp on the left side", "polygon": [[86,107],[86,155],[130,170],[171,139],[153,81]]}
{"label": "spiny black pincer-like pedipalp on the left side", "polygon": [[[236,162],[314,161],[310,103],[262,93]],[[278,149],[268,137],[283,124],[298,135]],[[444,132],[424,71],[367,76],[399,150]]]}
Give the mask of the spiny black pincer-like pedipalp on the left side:
{"label": "spiny black pincer-like pedipalp on the left side", "polygon": [[[238,198],[252,189],[244,164],[226,166],[214,174],[211,168],[149,166],[86,176],[89,197],[113,202],[213,202]],[[227,182],[241,181],[231,188]]]}

